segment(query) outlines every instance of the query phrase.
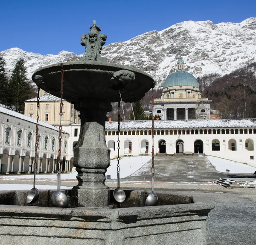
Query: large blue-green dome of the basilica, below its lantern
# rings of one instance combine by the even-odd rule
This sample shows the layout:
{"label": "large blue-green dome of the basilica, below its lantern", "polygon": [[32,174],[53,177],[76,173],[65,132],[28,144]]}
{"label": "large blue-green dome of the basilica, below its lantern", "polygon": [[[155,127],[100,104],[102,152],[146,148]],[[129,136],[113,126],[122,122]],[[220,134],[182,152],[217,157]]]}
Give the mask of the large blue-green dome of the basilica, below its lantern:
{"label": "large blue-green dome of the basilica, below its lantern", "polygon": [[177,71],[170,74],[163,83],[163,88],[172,86],[192,86],[199,88],[195,77],[186,71]]}

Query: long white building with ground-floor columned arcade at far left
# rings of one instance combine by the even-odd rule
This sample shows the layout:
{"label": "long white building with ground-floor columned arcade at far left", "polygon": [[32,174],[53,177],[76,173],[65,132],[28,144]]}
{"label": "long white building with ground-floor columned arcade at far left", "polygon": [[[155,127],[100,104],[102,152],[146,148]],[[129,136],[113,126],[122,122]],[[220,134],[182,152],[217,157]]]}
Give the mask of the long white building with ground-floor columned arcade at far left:
{"label": "long white building with ground-floor columned arcade at far left", "polygon": [[[15,111],[0,107],[0,173],[32,173],[35,163],[35,140],[38,141],[38,173],[54,173],[58,168],[59,128]],[[69,134],[63,131],[61,170],[70,171],[67,159]]]}

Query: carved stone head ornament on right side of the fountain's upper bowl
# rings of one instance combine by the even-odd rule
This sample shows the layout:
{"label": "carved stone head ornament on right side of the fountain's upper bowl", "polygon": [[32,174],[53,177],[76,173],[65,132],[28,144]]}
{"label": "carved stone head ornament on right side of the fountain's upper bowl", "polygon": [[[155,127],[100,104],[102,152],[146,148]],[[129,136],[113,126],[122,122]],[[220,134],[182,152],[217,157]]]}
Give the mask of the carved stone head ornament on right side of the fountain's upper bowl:
{"label": "carved stone head ornament on right side of the fountain's upper bowl", "polygon": [[111,87],[114,90],[120,90],[130,85],[135,80],[135,74],[132,71],[120,70],[116,71],[111,77]]}

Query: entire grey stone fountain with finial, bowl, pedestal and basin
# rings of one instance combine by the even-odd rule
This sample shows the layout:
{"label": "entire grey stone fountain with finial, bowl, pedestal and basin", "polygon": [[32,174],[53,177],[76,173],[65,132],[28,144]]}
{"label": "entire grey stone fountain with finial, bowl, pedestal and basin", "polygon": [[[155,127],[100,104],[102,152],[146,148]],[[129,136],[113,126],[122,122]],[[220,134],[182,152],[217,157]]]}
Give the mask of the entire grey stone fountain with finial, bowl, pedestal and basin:
{"label": "entire grey stone fountain with finial, bowl, pedestal and basin", "polygon": [[110,150],[105,142],[106,114],[111,102],[135,102],[154,87],[143,71],[107,63],[101,49],[107,36],[95,21],[81,36],[86,54],[79,62],[38,69],[32,80],[44,91],[63,98],[80,111],[81,131],[73,164],[78,185],[64,191],[69,208],[52,208],[54,191],[40,191],[37,202],[26,204],[28,191],[0,192],[0,244],[206,244],[206,219],[214,207],[200,197],[158,191],[157,206],[145,207],[146,191],[126,190],[117,204],[105,185]]}

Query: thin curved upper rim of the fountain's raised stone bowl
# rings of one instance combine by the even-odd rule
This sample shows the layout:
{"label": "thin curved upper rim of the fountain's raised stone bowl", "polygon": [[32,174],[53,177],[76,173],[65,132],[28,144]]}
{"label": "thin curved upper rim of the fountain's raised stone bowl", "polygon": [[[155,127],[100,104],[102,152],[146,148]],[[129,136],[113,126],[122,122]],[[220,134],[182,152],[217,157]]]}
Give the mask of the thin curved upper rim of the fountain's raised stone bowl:
{"label": "thin curved upper rim of the fountain's raised stone bowl", "polygon": [[[62,64],[65,71],[82,69],[82,68],[70,68],[69,69],[68,66],[100,66],[100,67],[119,68],[120,70],[134,71],[134,72],[143,74],[143,75],[151,78],[154,81],[153,77],[151,77],[151,75],[149,75],[145,71],[141,71],[141,70],[133,68],[131,66],[125,66],[125,65],[120,65],[120,64],[115,64],[115,63],[108,63],[108,62],[97,62],[97,61],[68,61],[66,63],[55,63],[55,64],[52,64],[52,65],[49,65],[49,66],[40,67],[32,74],[32,80],[34,81],[34,78],[35,78],[36,75],[38,75],[37,74],[38,72],[40,72],[42,70],[45,70],[45,69],[48,69],[48,68],[61,67],[61,64]],[[65,67],[67,67],[67,68],[65,68]],[[84,67],[84,68],[86,68],[86,67]]]}

